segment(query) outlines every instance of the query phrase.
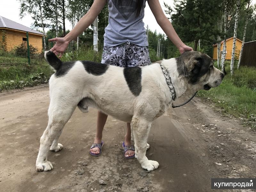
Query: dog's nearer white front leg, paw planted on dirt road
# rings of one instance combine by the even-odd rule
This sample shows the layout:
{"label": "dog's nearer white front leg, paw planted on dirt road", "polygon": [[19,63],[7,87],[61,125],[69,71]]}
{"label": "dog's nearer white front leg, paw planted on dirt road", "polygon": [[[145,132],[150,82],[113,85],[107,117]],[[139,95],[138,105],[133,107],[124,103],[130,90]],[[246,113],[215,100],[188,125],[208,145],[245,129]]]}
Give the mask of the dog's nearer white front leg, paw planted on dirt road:
{"label": "dog's nearer white front leg, paw planted on dirt road", "polygon": [[150,131],[151,122],[144,118],[132,118],[132,131],[134,136],[135,157],[140,162],[143,169],[153,171],[159,164],[156,161],[148,160],[146,157],[147,140]]}

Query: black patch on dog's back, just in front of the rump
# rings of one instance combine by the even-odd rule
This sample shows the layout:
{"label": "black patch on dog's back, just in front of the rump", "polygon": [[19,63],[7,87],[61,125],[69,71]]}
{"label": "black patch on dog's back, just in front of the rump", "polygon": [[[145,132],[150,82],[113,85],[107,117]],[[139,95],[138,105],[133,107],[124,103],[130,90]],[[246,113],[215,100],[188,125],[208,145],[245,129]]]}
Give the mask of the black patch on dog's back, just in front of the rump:
{"label": "black patch on dog's back, just in front of the rump", "polygon": [[87,73],[92,75],[103,75],[108,70],[108,65],[103,63],[97,63],[93,61],[81,61],[84,65],[84,69]]}

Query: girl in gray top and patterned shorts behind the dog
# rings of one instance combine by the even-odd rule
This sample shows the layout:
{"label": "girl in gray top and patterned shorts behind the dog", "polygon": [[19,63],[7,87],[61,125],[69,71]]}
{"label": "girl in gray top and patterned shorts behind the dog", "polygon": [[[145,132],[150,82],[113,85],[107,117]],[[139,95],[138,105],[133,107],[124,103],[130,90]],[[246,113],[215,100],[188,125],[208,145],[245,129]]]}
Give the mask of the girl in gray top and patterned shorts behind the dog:
{"label": "girl in gray top and patterned shorts behind the dog", "polygon": [[[147,0],[95,0],[91,9],[81,18],[76,26],[64,37],[53,38],[56,44],[51,49],[59,57],[65,52],[68,44],[76,39],[91,23],[108,3],[109,18],[105,28],[102,63],[119,67],[137,67],[150,65],[146,29],[142,19]],[[193,51],[179,38],[171,22],[165,16],[159,0],[148,0],[148,5],[154,14],[157,23],[170,38],[180,53]],[[129,98],[124,98],[129,99]],[[90,154],[99,156],[103,146],[102,132],[107,121],[107,115],[98,111],[97,131]],[[127,131],[123,142],[124,156],[129,159],[135,156],[131,142],[131,124],[127,123]]]}

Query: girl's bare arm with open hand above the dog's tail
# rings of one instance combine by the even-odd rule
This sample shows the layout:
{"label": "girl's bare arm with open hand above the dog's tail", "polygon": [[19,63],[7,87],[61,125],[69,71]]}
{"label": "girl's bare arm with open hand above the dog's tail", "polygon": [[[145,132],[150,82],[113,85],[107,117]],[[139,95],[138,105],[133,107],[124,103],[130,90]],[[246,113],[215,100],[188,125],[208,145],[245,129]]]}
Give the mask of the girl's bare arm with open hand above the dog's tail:
{"label": "girl's bare arm with open hand above the dog's tail", "polygon": [[56,41],[56,44],[52,47],[51,51],[56,55],[60,54],[61,57],[62,53],[67,49],[68,44],[92,24],[106,3],[107,0],[95,0],[90,10],[78,21],[76,26],[65,37],[49,39],[49,41]]}

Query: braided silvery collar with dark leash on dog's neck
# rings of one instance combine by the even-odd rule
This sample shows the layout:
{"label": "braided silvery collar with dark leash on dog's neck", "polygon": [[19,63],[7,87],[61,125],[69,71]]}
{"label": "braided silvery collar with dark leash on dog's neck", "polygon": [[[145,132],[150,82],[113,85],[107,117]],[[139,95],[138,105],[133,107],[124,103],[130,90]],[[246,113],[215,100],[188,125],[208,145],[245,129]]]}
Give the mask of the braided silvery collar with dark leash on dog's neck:
{"label": "braided silvery collar with dark leash on dog's neck", "polygon": [[[162,68],[162,71],[163,71],[163,74],[164,74],[164,77],[165,77],[165,80],[166,80],[166,84],[168,85],[168,87],[170,89],[170,92],[172,94],[172,100],[175,101],[175,99],[176,99],[176,92],[175,92],[174,86],[172,84],[171,76],[169,74],[169,71],[162,64],[159,64],[159,65]],[[197,92],[195,92],[195,94],[188,101],[186,101],[185,103],[183,103],[181,105],[173,105],[173,103],[172,103],[172,108],[181,107],[181,106],[187,104],[189,101],[191,101],[196,96],[196,93]]]}

